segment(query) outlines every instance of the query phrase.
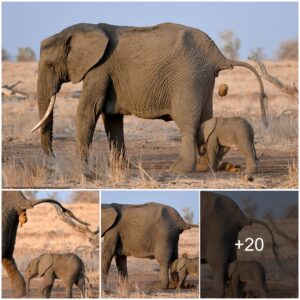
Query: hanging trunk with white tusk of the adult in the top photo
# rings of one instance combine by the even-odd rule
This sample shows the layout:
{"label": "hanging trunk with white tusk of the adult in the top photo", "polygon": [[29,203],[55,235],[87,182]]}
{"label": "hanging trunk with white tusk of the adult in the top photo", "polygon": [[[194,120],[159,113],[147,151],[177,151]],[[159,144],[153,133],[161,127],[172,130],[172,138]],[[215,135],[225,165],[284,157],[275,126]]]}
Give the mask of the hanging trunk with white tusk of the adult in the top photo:
{"label": "hanging trunk with white tusk of the adult in the top photo", "polygon": [[53,107],[56,94],[48,91],[40,81],[37,85],[37,98],[40,122],[32,129],[32,132],[41,128],[41,145],[47,156],[54,157],[52,149],[53,140]]}

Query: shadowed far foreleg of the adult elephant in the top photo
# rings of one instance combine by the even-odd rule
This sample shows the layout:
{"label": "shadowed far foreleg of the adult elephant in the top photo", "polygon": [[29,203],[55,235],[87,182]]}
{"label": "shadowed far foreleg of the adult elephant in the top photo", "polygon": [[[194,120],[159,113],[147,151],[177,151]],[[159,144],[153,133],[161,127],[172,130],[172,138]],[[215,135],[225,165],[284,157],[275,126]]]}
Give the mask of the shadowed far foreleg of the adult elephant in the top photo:
{"label": "shadowed far foreleg of the adult elephant in the top photo", "polygon": [[125,162],[123,115],[102,114],[104,128],[111,152],[111,165]]}

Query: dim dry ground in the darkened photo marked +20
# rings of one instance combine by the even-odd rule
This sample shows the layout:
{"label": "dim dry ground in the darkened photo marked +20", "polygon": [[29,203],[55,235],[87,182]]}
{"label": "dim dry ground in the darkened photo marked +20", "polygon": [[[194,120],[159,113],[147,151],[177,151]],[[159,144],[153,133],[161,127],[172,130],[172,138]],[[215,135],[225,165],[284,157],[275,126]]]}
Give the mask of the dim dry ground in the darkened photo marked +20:
{"label": "dim dry ground in the darkened photo marked +20", "polygon": [[[277,227],[288,236],[297,239],[298,222],[297,220],[281,219],[275,220]],[[269,224],[269,223],[268,223]],[[274,233],[274,231],[273,231]],[[272,253],[272,243],[267,230],[260,225],[246,226],[239,234],[239,239],[252,237],[256,239],[261,237],[264,240],[265,247],[262,252],[238,251],[238,260],[257,260],[266,269],[267,284],[269,288],[268,298],[298,298],[298,250],[297,246],[287,242],[287,240],[274,234],[278,245],[278,252],[282,269],[279,269]],[[206,298],[212,292],[212,271],[205,264],[201,265],[201,297]],[[248,287],[254,288],[253,286]],[[247,289],[248,289],[247,288]]]}

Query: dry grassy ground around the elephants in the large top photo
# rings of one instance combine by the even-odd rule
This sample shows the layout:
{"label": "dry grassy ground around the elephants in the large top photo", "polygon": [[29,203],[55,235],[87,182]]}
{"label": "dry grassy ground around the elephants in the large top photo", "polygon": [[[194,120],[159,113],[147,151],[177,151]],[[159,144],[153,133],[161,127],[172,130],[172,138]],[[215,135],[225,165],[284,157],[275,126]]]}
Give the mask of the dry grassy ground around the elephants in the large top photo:
{"label": "dry grassy ground around the elephants in the large top photo", "polygon": [[[270,74],[286,84],[298,82],[297,62],[266,62]],[[255,131],[259,158],[254,181],[245,181],[236,173],[210,171],[199,159],[197,172],[178,175],[168,171],[180,149],[180,134],[174,122],[125,117],[127,156],[134,167],[113,170],[108,167],[109,150],[100,119],[91,151],[91,169],[96,180],[86,181],[80,174],[75,154],[75,116],[78,99],[71,93],[81,84],[63,85],[55,104],[54,152],[47,161],[42,153],[39,133],[30,134],[38,121],[36,103],[37,63],[4,62],[3,84],[12,84],[29,97],[25,100],[4,98],[2,102],[2,182],[3,187],[74,187],[74,188],[297,188],[298,185],[298,106],[297,99],[264,81],[269,97],[270,126],[261,122],[259,85],[253,74],[243,68],[223,71],[214,91],[215,116],[242,116]],[[217,95],[226,83],[226,97]],[[244,165],[242,154],[231,150],[225,160]]]}

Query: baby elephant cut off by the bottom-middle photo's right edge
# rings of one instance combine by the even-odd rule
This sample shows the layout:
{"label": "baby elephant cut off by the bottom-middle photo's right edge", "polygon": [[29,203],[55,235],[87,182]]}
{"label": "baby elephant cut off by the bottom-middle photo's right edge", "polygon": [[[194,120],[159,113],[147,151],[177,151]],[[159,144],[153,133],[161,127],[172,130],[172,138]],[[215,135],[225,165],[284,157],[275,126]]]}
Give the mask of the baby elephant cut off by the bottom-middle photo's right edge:
{"label": "baby elephant cut off by the bottom-middle photo's right edge", "polygon": [[[178,274],[178,277],[176,276]],[[183,254],[181,258],[176,259],[171,266],[171,277],[179,278],[177,290],[184,288],[184,281],[188,274],[199,276],[199,257],[189,258]]]}

